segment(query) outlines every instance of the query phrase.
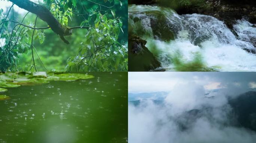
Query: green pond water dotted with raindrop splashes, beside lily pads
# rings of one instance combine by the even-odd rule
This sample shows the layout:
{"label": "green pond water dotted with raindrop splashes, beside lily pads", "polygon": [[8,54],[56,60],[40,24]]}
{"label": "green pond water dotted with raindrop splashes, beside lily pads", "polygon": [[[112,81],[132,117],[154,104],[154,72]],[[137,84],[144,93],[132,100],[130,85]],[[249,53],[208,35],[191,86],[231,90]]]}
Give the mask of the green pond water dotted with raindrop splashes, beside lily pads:
{"label": "green pond water dotted with raindrop splashes, beside lily pads", "polygon": [[127,72],[6,88],[0,143],[128,142]]}

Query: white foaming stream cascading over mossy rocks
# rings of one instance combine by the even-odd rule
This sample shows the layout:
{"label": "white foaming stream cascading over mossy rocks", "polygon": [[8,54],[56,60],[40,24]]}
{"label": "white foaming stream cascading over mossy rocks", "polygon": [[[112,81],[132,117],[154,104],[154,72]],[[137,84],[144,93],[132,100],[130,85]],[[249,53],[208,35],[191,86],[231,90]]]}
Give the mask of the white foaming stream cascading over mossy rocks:
{"label": "white foaming stream cascading over mossy rocks", "polygon": [[[236,37],[212,16],[178,15],[172,9],[142,5],[129,6],[128,14],[132,32],[147,41],[166,70],[175,70],[174,61],[179,60],[217,71],[256,71],[256,55],[248,52],[256,48],[256,28],[245,19],[233,25]],[[166,35],[174,40],[166,40]]]}

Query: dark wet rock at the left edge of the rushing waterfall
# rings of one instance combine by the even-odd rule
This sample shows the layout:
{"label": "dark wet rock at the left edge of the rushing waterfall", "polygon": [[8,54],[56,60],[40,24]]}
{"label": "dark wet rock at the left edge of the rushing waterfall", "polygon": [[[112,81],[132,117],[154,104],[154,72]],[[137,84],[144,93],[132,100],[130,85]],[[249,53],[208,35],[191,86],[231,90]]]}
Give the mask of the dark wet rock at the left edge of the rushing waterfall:
{"label": "dark wet rock at the left edge of the rushing waterfall", "polygon": [[146,41],[131,35],[128,39],[129,71],[150,71],[161,67],[161,63],[145,47]]}

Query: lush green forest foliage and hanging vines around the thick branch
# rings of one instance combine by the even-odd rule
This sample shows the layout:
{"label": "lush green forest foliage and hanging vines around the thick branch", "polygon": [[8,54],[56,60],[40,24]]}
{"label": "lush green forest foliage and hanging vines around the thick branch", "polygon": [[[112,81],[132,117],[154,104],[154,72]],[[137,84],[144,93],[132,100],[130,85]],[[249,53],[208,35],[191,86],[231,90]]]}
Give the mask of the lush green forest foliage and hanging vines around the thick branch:
{"label": "lush green forest foliage and hanging vines around the thick branch", "polygon": [[0,71],[128,70],[127,0],[34,1],[49,16],[11,2],[29,12],[0,11]]}

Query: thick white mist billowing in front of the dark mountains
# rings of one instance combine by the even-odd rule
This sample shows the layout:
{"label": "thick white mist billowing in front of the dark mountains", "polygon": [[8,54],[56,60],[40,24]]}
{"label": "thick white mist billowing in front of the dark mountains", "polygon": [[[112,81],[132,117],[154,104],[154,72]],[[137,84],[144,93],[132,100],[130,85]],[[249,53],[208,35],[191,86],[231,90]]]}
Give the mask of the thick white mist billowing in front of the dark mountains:
{"label": "thick white mist billowing in front of the dark mountains", "polygon": [[[251,84],[256,87],[255,82]],[[235,87],[232,83],[229,85]],[[223,85],[220,82],[209,82],[205,86],[214,89]],[[175,85],[161,105],[154,104],[151,100],[142,100],[138,106],[129,104],[129,142],[255,142],[255,132],[233,126],[231,122],[234,117],[231,113],[234,113],[232,108],[227,106],[228,99],[221,91],[214,92],[214,98],[204,98],[204,93],[205,88],[202,85],[189,82]]]}

